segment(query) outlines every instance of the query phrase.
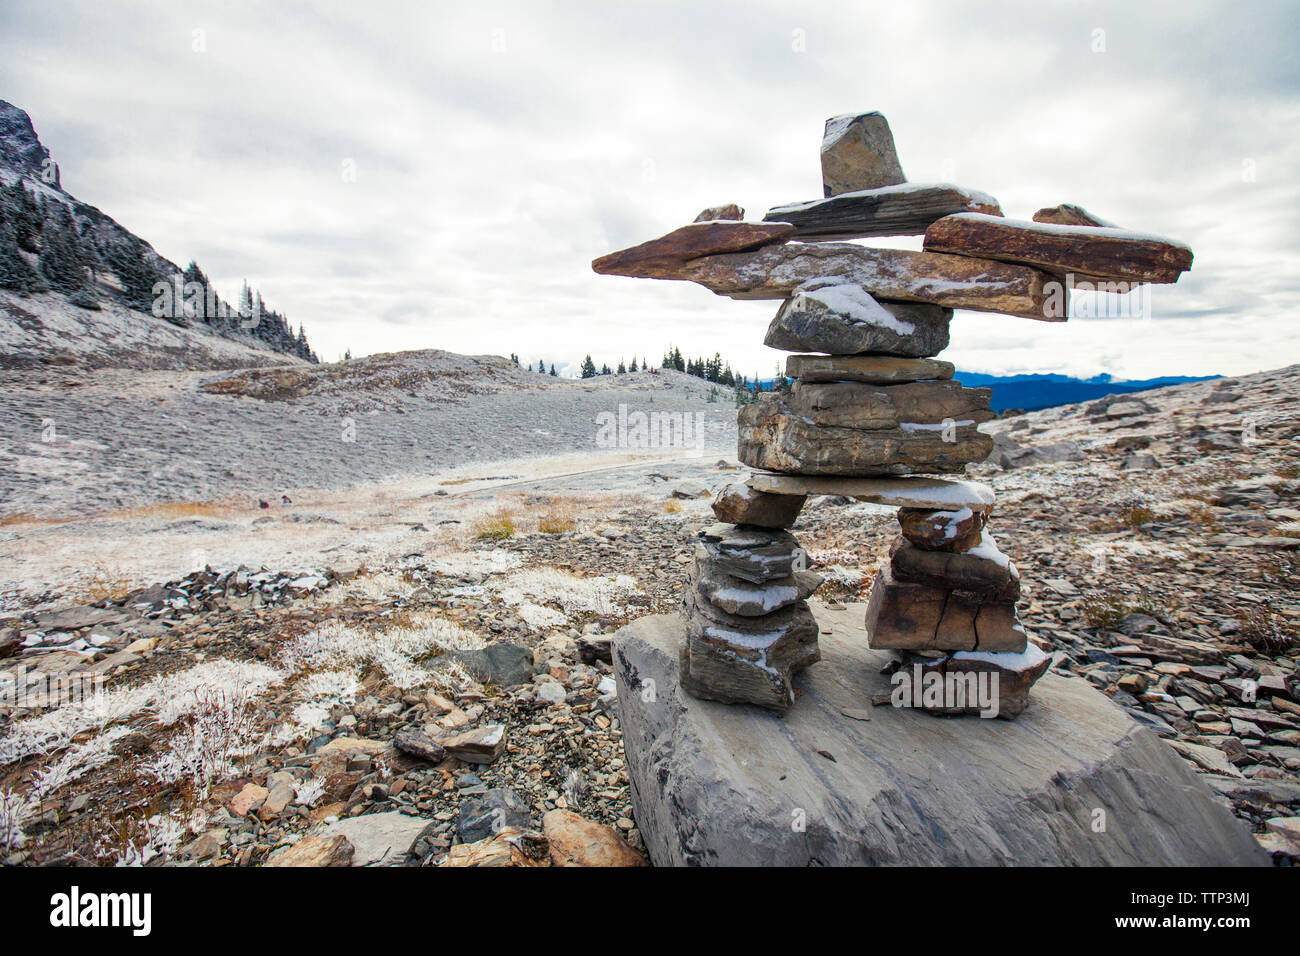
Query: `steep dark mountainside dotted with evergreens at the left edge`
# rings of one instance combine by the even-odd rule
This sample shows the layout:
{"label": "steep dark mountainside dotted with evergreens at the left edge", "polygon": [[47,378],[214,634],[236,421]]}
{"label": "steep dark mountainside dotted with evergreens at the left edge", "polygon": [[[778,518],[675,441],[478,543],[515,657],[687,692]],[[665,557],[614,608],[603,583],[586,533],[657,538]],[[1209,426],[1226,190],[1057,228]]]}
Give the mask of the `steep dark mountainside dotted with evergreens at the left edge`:
{"label": "steep dark mountainside dotted with evergreens at the left edge", "polygon": [[[294,333],[260,294],[246,286],[240,302],[222,300],[198,264],[182,269],[70,195],[31,118],[3,100],[0,290],[4,367],[69,356],[144,368],[181,367],[187,356],[191,368],[316,360],[303,328]],[[142,339],[161,339],[165,355],[121,347]]]}

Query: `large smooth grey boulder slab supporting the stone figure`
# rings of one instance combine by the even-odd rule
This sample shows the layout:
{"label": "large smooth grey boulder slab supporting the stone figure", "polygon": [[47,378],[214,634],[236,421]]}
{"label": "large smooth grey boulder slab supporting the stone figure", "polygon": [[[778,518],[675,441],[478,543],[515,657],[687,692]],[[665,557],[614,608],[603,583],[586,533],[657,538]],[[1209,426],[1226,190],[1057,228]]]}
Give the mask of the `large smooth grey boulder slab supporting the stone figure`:
{"label": "large smooth grey boulder slab supporting the stone figure", "polygon": [[864,605],[815,611],[822,661],[784,717],[684,693],[679,615],[615,636],[655,865],[1268,864],[1173,748],[1087,682],[1044,675],[1015,721],[872,708],[890,654],[867,646]]}

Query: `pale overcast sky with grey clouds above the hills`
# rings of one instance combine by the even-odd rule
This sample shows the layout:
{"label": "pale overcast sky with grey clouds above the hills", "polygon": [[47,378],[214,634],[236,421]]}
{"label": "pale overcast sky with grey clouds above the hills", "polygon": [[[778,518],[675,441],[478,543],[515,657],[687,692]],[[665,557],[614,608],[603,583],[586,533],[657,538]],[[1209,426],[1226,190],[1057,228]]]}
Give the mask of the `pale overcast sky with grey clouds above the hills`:
{"label": "pale overcast sky with grey clouds above the hills", "polygon": [[1231,375],[1300,362],[1297,38],[1300,4],[1253,1],[0,0],[0,99],[73,195],[231,298],[246,277],[325,359],[672,342],[767,376],[779,303],[590,260],[819,198],[826,118],[880,109],[913,181],[1196,254],[1149,320],[958,312],[944,358]]}

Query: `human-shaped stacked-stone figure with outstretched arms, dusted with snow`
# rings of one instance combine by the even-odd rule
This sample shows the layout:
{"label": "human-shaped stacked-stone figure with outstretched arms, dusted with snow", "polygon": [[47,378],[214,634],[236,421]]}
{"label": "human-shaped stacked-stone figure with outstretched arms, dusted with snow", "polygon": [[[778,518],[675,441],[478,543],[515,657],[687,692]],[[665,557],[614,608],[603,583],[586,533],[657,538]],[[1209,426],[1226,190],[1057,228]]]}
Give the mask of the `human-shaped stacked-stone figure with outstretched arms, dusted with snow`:
{"label": "human-shaped stacked-stone figure with outstretched arms, dusted with snow", "polygon": [[[902,533],[868,598],[871,646],[919,675],[996,674],[985,685],[997,687],[1000,715],[1014,717],[1050,658],[1020,626],[1019,575],[985,527],[992,489],[935,477],[988,457],[979,424],[993,412],[988,389],[963,388],[933,356],[954,308],[1063,321],[1076,282],[1173,282],[1191,250],[1076,206],[1027,222],[983,193],[906,182],[880,113],[827,121],[822,177],[824,198],[762,222],[715,207],[592,264],[781,299],[764,343],[797,352],[785,369],[793,386],[740,410],[740,458],[755,472],[715,498],[719,523],[696,548],[681,684],[697,697],[790,706],[793,672],[819,658],[806,598],[820,579],[802,570],[788,528],[806,496],[836,494],[898,507]],[[852,242],[922,234],[920,252]],[[930,709],[987,711],[952,700]]]}

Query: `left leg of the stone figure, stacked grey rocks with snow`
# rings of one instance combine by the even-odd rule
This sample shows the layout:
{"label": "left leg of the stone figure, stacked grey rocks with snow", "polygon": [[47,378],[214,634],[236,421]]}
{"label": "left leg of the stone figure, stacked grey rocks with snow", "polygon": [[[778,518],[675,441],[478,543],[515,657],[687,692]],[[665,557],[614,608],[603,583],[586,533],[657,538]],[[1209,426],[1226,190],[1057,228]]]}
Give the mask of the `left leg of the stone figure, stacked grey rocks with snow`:
{"label": "left leg of the stone figure, stacked grey rocks with snow", "polygon": [[722,520],[701,533],[684,601],[681,685],[696,697],[785,711],[794,671],[820,659],[806,598],[822,578],[800,570],[786,531],[802,505],[742,484],[714,501]]}

